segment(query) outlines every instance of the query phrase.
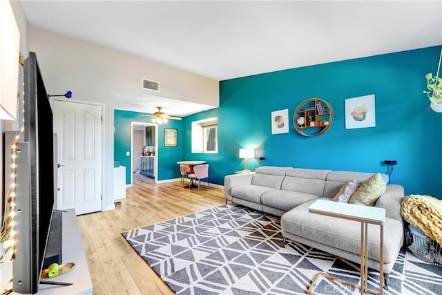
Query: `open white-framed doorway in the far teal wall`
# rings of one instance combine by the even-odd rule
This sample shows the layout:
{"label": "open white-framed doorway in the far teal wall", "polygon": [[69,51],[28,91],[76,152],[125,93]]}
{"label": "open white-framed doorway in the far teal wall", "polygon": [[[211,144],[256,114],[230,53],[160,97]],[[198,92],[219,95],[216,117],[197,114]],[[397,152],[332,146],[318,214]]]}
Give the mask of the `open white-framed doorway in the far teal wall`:
{"label": "open white-framed doorway in the far teal wall", "polygon": [[131,122],[131,184],[133,175],[140,174],[157,183],[158,131],[157,125]]}

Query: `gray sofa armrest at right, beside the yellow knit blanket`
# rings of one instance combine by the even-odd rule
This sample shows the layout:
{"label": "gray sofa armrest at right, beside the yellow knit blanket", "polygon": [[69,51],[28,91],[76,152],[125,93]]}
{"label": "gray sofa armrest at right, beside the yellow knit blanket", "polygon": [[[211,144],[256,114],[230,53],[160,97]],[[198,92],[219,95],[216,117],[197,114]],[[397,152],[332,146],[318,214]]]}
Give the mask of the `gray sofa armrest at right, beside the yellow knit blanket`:
{"label": "gray sofa armrest at right, beside the yellow knit blanket", "polygon": [[403,221],[401,215],[403,197],[403,186],[399,184],[387,184],[387,189],[376,202],[376,207],[385,209],[385,217]]}

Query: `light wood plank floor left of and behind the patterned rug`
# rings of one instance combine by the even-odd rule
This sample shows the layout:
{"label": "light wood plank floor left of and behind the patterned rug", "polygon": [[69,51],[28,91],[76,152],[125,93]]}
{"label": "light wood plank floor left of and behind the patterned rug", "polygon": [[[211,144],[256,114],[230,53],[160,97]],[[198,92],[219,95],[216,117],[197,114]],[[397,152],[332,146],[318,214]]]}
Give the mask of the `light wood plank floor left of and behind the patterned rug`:
{"label": "light wood plank floor left of and behind the patterned rug", "polygon": [[[155,184],[133,175],[115,210],[77,216],[93,294],[173,294],[121,235],[155,222],[225,204],[224,191],[186,189],[180,181]],[[189,184],[189,180],[186,180]]]}

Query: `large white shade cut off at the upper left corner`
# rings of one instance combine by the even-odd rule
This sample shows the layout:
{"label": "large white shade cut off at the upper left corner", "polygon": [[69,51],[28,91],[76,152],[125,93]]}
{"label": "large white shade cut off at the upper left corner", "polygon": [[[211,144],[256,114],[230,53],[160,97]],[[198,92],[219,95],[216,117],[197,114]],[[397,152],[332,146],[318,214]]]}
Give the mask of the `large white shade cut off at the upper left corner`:
{"label": "large white shade cut off at the upper left corner", "polygon": [[8,0],[0,0],[0,22],[0,120],[15,120],[20,32]]}

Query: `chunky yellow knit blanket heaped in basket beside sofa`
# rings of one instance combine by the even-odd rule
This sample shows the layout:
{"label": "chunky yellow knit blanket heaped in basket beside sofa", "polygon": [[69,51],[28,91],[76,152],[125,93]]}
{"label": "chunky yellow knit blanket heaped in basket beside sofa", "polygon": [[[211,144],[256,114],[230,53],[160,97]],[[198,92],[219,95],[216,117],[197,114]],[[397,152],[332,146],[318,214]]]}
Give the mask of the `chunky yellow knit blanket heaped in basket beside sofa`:
{"label": "chunky yellow knit blanket heaped in basket beside sofa", "polygon": [[406,196],[402,199],[401,213],[407,222],[442,247],[442,200],[432,196]]}

